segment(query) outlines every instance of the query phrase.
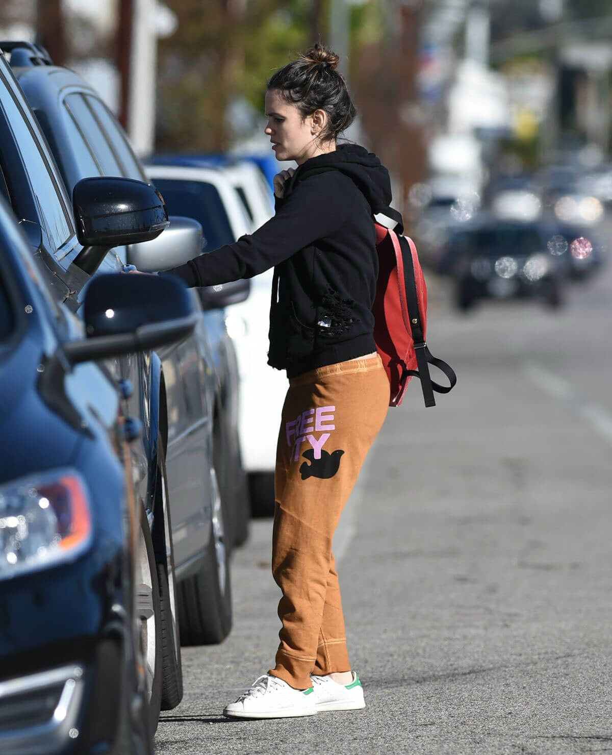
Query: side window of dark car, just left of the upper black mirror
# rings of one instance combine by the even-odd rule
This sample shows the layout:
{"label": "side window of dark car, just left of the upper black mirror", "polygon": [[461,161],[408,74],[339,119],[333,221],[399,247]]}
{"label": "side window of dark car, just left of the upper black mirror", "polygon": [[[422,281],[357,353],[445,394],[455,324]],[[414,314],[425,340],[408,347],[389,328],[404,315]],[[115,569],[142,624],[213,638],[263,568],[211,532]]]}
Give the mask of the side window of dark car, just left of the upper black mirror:
{"label": "side window of dark car, just left of the upper black mirror", "polygon": [[[14,134],[14,142],[20,152],[32,188],[32,196],[38,208],[38,216],[45,227],[50,242],[59,248],[72,236],[73,229],[67,214],[66,201],[60,190],[60,178],[54,165],[45,158],[40,143],[35,137],[35,122],[26,119],[23,106],[17,103],[10,88],[5,89],[0,107]],[[10,176],[6,176],[11,193]]]}

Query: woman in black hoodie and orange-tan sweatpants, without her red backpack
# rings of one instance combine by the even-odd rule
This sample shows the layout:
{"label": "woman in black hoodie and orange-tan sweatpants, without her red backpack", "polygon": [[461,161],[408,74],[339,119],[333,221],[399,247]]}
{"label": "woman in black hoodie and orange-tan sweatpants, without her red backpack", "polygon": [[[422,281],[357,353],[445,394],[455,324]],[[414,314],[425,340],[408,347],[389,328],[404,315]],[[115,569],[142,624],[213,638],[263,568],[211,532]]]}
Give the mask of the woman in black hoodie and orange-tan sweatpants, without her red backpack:
{"label": "woman in black hoodie and orange-tan sweatpants, without her red backpack", "polygon": [[[202,286],[275,267],[269,364],[289,378],[272,532],[281,643],[274,667],[227,705],[226,716],[364,707],[346,650],[331,544],[389,404],[371,306],[378,272],[372,215],[388,207],[391,189],[376,156],[337,145],[355,118],[337,63],[317,44],[268,82],[266,134],[278,160],[298,164],[275,177],[275,217],[167,271]],[[261,421],[269,421],[265,407]]]}

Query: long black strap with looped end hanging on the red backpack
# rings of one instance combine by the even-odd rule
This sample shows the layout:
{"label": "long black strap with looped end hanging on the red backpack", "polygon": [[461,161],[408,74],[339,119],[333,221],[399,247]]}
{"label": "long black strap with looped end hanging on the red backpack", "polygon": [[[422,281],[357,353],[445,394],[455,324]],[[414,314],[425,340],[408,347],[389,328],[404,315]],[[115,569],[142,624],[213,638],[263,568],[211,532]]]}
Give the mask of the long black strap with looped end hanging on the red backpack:
{"label": "long black strap with looped end hanging on the red backpack", "polygon": [[[455,387],[455,384],[457,384],[457,375],[451,365],[448,365],[447,362],[444,362],[442,359],[432,356],[432,353],[427,348],[425,337],[423,335],[423,323],[421,322],[420,317],[419,300],[417,297],[417,279],[414,275],[414,262],[412,260],[411,246],[403,236],[398,236],[398,239],[403,252],[401,257],[404,261],[406,303],[410,315],[410,327],[412,340],[414,341],[414,353],[417,355],[418,367],[418,370],[405,370],[404,376],[412,375],[413,377],[418,377],[421,381],[425,405],[435,406],[434,391],[436,393],[448,393]],[[433,365],[440,371],[444,372],[448,378],[449,385],[444,386],[432,381],[432,377],[429,374],[429,365]]]}

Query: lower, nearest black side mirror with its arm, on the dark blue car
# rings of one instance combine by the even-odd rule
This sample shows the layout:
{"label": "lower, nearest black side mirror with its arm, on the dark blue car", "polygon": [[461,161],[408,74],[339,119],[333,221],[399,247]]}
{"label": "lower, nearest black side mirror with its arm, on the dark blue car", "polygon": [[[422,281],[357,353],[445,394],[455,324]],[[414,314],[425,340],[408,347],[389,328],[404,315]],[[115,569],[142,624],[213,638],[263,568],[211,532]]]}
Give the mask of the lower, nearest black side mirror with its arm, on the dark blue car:
{"label": "lower, nearest black side mirror with its arm, on the dark blue car", "polygon": [[63,350],[72,365],[155,349],[189,336],[199,314],[177,278],[104,273],[88,284],[83,303],[87,338]]}

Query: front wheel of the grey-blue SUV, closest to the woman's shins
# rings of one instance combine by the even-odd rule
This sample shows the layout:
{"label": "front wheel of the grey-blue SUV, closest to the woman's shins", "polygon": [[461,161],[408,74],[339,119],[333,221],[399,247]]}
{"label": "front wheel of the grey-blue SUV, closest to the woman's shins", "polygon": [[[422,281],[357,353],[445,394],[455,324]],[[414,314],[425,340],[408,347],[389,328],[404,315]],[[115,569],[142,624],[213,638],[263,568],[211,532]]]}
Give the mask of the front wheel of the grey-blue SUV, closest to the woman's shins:
{"label": "front wheel of the grey-blue SUV, closest to the woman's shins", "polygon": [[182,645],[214,645],[232,629],[232,583],[217,474],[211,470],[213,512],[205,564],[178,584]]}

